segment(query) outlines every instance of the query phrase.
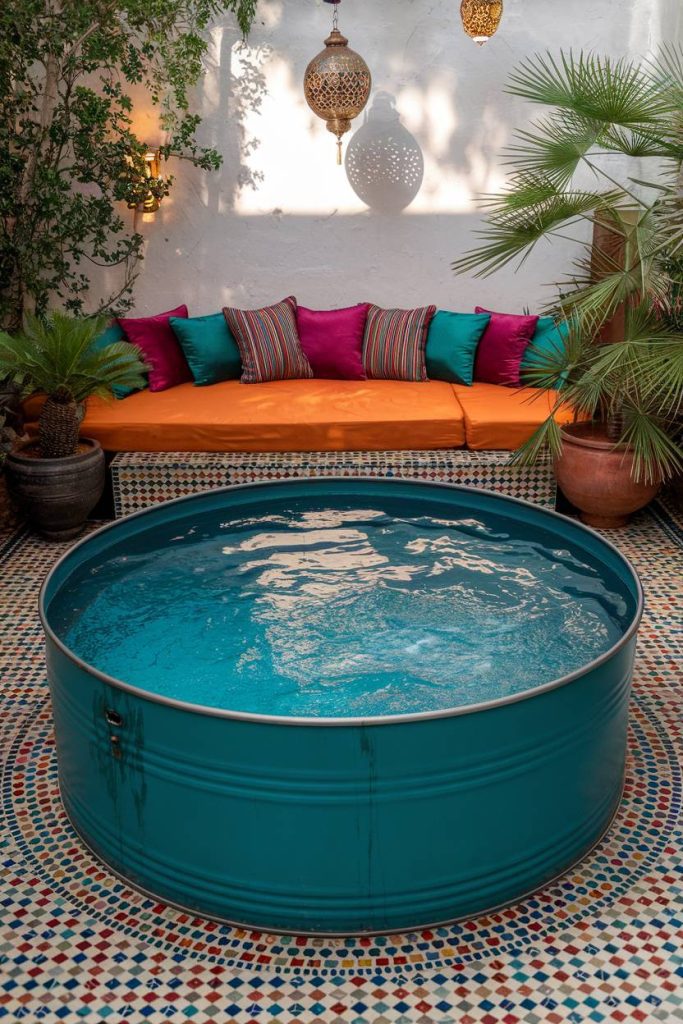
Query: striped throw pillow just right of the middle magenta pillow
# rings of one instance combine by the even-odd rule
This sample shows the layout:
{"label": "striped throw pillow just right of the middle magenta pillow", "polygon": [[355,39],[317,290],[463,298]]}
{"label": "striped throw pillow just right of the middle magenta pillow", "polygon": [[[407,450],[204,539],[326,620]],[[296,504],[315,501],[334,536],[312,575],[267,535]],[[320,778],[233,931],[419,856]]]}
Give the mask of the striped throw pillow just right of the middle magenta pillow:
{"label": "striped throw pillow just right of the middle magenta pillow", "polygon": [[375,380],[426,381],[425,346],[436,306],[380,309],[371,306],[366,322],[362,361]]}

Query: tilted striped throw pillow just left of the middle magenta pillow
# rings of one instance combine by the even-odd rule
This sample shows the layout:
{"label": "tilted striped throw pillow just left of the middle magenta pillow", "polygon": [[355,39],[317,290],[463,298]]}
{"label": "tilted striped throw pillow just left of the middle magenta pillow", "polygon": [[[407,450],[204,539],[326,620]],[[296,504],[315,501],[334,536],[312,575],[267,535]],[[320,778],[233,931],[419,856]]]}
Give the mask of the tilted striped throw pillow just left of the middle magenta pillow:
{"label": "tilted striped throw pillow just left of the middle magenta pillow", "polygon": [[223,309],[242,357],[242,383],[312,377],[296,326],[296,299],[290,296],[263,309]]}

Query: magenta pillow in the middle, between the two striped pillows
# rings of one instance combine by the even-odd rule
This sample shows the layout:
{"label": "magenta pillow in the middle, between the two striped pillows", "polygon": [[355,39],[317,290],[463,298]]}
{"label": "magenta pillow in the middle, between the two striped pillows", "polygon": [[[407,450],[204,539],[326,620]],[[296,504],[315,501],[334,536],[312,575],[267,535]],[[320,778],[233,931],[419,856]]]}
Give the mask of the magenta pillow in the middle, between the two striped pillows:
{"label": "magenta pillow in the middle, between the two striped pillows", "polygon": [[365,381],[362,338],[369,302],[345,309],[297,307],[299,340],[313,377],[333,381]]}

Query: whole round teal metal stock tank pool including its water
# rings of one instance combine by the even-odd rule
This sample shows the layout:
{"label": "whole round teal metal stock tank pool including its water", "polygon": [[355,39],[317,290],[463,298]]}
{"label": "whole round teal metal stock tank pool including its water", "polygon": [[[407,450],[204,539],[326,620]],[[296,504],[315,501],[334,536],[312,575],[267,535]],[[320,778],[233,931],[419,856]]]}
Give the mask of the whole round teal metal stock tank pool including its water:
{"label": "whole round teal metal stock tank pool including its water", "polygon": [[505,905],[615,813],[641,610],[597,534],[489,492],[152,507],[43,587],[65,807],[123,879],[216,920],[355,934]]}

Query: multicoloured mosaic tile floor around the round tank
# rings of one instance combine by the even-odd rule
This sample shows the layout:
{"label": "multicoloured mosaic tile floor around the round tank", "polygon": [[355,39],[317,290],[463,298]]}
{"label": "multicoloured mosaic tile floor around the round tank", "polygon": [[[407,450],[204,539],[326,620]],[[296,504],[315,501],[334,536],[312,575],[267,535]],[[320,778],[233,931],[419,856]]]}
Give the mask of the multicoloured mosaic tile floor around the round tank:
{"label": "multicoloured mosaic tile floor around the round tank", "polygon": [[683,531],[659,505],[611,539],[639,569],[647,606],[626,792],[607,837],[560,882],[500,913],[330,940],[193,919],[132,892],[81,847],[59,803],[36,614],[63,546],[5,538],[0,1019],[683,1021]]}

